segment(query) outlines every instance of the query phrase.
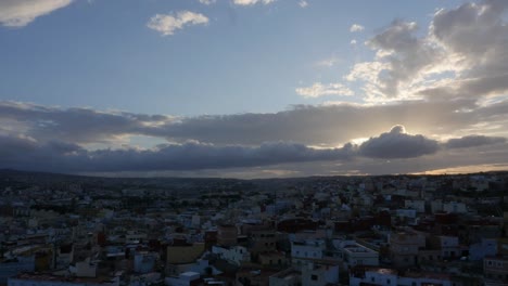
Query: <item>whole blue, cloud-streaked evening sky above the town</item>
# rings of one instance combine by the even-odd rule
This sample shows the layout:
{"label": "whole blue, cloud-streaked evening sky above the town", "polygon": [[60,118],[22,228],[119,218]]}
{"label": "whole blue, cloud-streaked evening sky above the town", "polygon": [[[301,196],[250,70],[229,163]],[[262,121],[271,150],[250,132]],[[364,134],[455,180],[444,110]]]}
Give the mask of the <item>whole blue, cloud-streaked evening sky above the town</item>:
{"label": "whole blue, cloud-streaked evening sky above the town", "polygon": [[508,170],[508,1],[0,0],[0,168]]}

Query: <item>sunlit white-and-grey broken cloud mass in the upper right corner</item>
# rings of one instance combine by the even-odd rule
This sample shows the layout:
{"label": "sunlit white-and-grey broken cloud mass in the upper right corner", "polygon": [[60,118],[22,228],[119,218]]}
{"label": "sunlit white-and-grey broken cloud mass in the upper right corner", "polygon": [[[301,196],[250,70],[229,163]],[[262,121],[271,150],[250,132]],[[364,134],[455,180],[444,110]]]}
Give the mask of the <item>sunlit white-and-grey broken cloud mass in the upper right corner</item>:
{"label": "sunlit white-and-grey broken cloud mass in the upper right corner", "polygon": [[363,83],[366,101],[504,96],[508,91],[506,1],[437,10],[428,32],[394,21],[367,41],[372,61],[345,77]]}

